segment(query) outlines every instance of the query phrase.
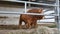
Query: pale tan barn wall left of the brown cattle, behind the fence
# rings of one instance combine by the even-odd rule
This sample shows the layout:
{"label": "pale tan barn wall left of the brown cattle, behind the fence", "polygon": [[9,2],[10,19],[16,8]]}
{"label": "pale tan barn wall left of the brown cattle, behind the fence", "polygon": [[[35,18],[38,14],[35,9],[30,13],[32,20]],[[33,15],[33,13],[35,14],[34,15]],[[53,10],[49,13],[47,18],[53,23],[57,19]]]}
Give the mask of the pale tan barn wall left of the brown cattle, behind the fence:
{"label": "pale tan barn wall left of the brown cattle, behind the fence", "polygon": [[[24,9],[19,8],[19,6],[14,6],[14,5],[4,5],[0,4],[0,12],[20,12],[23,13]],[[0,18],[0,24],[4,25],[18,25],[19,23],[19,18],[14,18],[14,17],[19,17],[19,15],[11,15],[11,14],[0,14],[0,16],[8,16],[8,18]]]}

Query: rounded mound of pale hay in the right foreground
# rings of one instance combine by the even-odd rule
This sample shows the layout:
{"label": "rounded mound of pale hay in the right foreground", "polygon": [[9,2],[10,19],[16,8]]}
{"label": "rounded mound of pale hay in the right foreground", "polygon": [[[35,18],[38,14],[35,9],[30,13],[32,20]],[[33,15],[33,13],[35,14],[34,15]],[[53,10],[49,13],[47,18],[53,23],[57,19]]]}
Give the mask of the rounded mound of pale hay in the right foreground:
{"label": "rounded mound of pale hay in the right foreground", "polygon": [[37,28],[38,34],[54,34],[54,31],[49,27],[41,26]]}

